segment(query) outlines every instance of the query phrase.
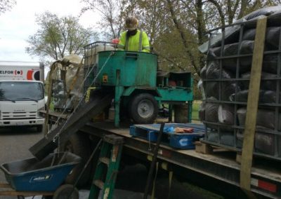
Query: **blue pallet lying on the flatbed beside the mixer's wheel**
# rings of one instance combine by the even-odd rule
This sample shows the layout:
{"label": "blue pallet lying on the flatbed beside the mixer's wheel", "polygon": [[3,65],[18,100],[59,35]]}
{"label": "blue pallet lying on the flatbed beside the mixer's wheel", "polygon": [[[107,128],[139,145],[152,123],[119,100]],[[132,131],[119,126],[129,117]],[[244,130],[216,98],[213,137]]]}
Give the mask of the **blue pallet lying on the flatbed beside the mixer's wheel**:
{"label": "blue pallet lying on the flatbed beside the mixer's wheel", "polygon": [[[192,133],[175,133],[174,128],[193,128]],[[157,142],[159,124],[131,125],[130,135],[146,139],[150,142]],[[204,137],[204,125],[194,123],[166,123],[162,134],[162,144],[169,145],[176,149],[195,149],[194,142]]]}

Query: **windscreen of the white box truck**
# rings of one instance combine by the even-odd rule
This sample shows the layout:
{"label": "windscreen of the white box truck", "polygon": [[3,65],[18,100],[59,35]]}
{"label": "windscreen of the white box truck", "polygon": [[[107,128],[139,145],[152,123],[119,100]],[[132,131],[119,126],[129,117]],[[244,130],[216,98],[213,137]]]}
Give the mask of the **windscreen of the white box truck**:
{"label": "windscreen of the white box truck", "polygon": [[0,82],[0,100],[40,100],[44,99],[43,84],[39,82]]}

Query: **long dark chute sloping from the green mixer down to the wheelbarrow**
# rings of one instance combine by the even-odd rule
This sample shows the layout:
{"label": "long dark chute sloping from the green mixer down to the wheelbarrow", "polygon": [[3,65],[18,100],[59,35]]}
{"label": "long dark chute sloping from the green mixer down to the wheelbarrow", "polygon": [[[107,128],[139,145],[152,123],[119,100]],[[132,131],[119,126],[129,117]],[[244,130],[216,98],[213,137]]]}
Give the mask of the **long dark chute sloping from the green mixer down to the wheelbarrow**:
{"label": "long dark chute sloping from the green mixer down to the wheelbarrow", "polygon": [[[48,133],[43,139],[30,147],[30,152],[39,160],[48,156],[58,146],[58,141],[53,139],[57,136],[69,137],[74,132],[82,128],[91,118],[98,116],[112,102],[112,93],[96,91],[91,102],[87,102],[72,114],[65,123],[58,125],[53,131]],[[63,140],[61,140],[63,142]]]}

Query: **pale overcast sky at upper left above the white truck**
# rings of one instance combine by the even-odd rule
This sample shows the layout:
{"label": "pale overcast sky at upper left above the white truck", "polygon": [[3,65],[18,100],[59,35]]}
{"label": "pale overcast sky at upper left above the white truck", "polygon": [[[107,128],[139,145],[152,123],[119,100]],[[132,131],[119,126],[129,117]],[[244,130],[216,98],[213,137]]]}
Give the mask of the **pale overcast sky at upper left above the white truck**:
{"label": "pale overcast sky at upper left above the white truck", "polygon": [[[50,11],[59,16],[78,16],[81,0],[16,0],[11,11],[0,14],[0,60],[38,62],[38,57],[25,53],[28,36],[37,32],[36,15]],[[98,13],[87,11],[79,22],[86,27],[95,27],[100,19]]]}

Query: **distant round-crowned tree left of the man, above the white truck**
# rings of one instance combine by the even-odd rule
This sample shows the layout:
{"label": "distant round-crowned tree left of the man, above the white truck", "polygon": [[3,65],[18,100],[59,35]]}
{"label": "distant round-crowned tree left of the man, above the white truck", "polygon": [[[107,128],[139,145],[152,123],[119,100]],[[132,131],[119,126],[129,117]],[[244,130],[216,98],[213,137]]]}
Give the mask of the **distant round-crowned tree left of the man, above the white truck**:
{"label": "distant round-crowned tree left of the man, above the white truck", "polygon": [[58,60],[65,55],[82,55],[83,47],[96,37],[91,29],[79,25],[79,19],[73,16],[61,17],[46,12],[37,16],[39,29],[29,36],[29,46],[25,48],[30,55],[37,55],[41,60]]}

